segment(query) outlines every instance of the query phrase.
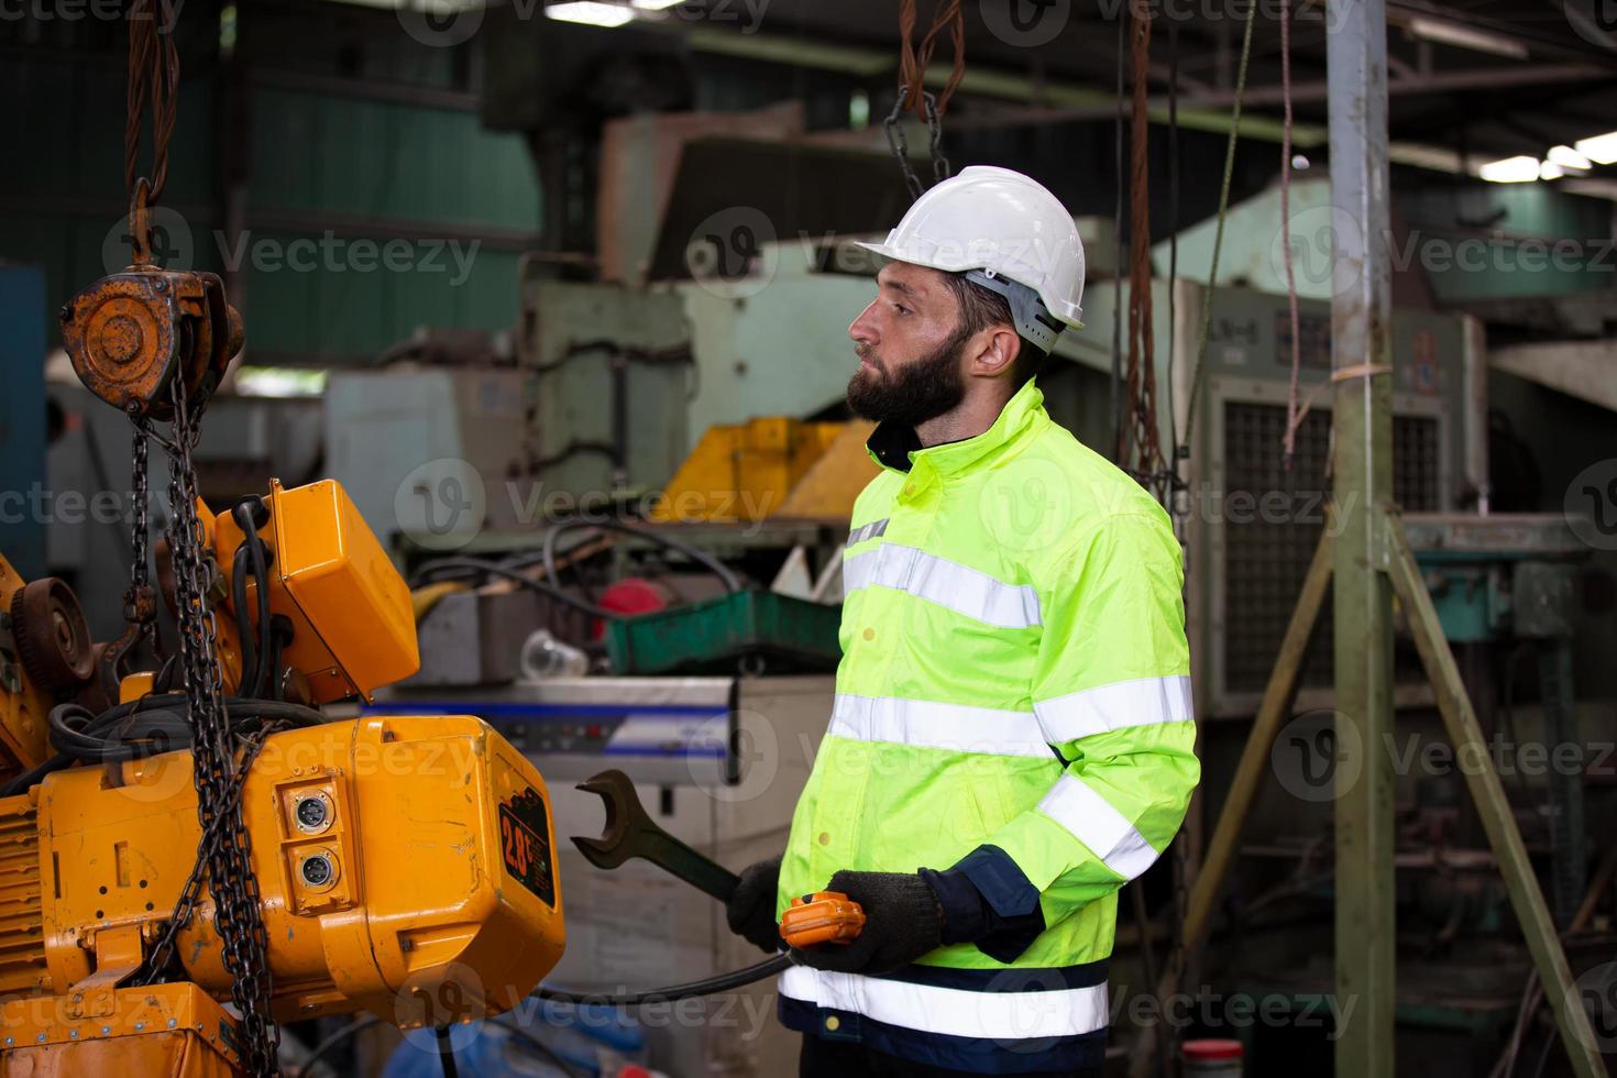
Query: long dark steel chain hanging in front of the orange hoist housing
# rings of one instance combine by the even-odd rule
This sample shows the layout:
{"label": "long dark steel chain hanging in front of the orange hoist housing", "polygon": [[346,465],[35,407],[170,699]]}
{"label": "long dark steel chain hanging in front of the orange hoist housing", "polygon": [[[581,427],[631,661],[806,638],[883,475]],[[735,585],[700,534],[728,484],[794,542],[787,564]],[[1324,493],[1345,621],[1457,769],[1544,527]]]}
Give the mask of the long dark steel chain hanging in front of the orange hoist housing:
{"label": "long dark steel chain hanging in front of the orange hoist housing", "polygon": [[163,441],[168,454],[168,498],[173,503],[168,546],[179,622],[178,661],[191,726],[192,779],[202,839],[197,861],[141,983],[150,983],[168,965],[175,941],[196,916],[205,881],[213,899],[213,931],[223,949],[225,970],[231,976],[230,997],[241,1015],[244,1062],[251,1075],[267,1078],[278,1073],[280,1028],[270,1018],[273,986],[268,936],[259,907],[259,882],[252,873],[252,839],[241,818],[241,787],[265,731],[260,727],[241,739],[244,743],[238,760],[215,650],[217,624],[210,592],[217,569],[207,532],[197,517],[197,480],[191,451],[201,427],[199,417],[191,414],[183,378],[173,381],[173,440],[163,441],[155,433],[152,436]]}

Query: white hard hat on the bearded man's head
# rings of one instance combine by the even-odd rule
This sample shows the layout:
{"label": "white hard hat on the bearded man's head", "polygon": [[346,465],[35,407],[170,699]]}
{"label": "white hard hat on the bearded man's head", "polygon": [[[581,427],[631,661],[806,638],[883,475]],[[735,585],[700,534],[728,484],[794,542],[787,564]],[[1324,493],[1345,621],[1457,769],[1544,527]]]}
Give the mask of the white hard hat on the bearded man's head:
{"label": "white hard hat on the bearded man's head", "polygon": [[[1017,331],[1024,330],[1024,304],[1001,280],[1032,289],[1045,309],[1069,326],[1083,325],[1083,241],[1072,215],[1041,183],[1009,168],[972,165],[928,189],[909,208],[886,242],[859,244],[896,262],[912,262],[946,273],[972,275],[1011,299]],[[1032,307],[1032,304],[1027,304]],[[1045,346],[1059,326],[1022,333]],[[1049,351],[1048,346],[1045,351]]]}

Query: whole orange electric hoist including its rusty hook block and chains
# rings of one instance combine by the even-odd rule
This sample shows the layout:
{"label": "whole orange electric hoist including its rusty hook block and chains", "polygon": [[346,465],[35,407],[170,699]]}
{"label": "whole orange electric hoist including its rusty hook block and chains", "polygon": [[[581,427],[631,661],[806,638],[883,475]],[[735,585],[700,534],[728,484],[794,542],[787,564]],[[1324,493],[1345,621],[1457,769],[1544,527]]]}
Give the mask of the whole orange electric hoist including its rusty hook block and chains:
{"label": "whole orange electric hoist including its rusty hook block and chains", "polygon": [[477,718],[317,710],[416,671],[411,596],[335,482],[196,498],[241,346],[218,280],[134,265],[63,335],[134,427],[136,564],[92,645],[71,588],[0,558],[0,1075],[268,1075],[280,1021],[514,1007],[564,942],[545,782]]}

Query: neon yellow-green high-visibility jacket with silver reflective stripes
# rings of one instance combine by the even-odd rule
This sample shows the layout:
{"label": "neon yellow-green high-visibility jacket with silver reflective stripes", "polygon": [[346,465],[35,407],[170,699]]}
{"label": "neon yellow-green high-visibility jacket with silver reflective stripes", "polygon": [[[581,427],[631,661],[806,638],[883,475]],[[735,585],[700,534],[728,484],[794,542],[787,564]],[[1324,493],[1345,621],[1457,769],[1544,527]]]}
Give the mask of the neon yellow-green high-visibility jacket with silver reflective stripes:
{"label": "neon yellow-green high-visibility jacket with silver reflective stripes", "polygon": [[783,1021],[978,1073],[1095,1063],[1117,891],[1200,777],[1179,541],[1033,381],[975,438],[884,423],[868,446],[778,912],[844,868],[954,868],[1022,931],[886,976],[794,966]]}

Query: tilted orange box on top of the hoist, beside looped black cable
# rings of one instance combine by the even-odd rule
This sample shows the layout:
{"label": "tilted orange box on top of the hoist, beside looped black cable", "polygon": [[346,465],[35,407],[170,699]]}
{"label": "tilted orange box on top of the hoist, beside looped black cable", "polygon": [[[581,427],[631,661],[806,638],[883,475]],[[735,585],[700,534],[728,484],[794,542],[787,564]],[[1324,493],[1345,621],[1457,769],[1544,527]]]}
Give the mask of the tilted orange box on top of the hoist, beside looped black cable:
{"label": "tilted orange box on top of the hoist, beside looped black cable", "polygon": [[[293,642],[283,655],[289,669],[309,679],[314,703],[353,695],[367,700],[382,685],[403,680],[420,667],[416,614],[409,587],[399,579],[377,537],[336,480],[285,490],[270,480],[270,522],[262,535],[273,553],[270,611],[293,621]],[[231,562],[243,540],[234,517],[205,514],[213,556],[230,595]],[[247,585],[249,606],[257,587]],[[226,663],[239,671],[239,640],[231,619],[218,635]]]}

